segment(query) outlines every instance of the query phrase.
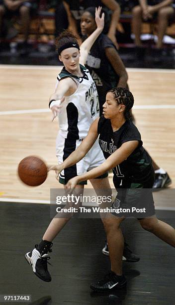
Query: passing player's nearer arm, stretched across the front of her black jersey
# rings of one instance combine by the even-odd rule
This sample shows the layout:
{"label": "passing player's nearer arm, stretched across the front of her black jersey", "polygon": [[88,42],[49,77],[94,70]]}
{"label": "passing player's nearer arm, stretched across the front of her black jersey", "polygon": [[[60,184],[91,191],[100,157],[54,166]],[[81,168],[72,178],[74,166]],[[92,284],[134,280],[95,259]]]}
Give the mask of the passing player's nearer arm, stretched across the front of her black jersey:
{"label": "passing player's nearer arm, stretched across the front of her black jersey", "polygon": [[84,180],[96,178],[113,167],[123,162],[138,146],[138,141],[128,141],[123,143],[122,146],[113,152],[101,165],[89,170],[85,174],[76,176],[68,181],[66,188],[75,188],[75,186]]}

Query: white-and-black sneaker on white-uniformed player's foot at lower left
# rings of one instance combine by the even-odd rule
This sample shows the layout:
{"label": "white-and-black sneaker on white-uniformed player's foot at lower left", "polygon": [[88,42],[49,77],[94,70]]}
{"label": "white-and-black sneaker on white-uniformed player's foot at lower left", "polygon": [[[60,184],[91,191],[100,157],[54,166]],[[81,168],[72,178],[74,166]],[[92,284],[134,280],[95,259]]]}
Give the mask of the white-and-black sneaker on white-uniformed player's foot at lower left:
{"label": "white-and-black sneaker on white-uniformed player's foot at lower left", "polygon": [[[40,253],[37,249],[38,245],[35,245],[35,248],[31,252],[26,253],[25,259],[32,266],[33,272],[38,278],[45,282],[51,282],[52,279],[47,270],[47,263],[50,256],[47,253]],[[51,252],[52,250],[48,249],[47,251]]]}

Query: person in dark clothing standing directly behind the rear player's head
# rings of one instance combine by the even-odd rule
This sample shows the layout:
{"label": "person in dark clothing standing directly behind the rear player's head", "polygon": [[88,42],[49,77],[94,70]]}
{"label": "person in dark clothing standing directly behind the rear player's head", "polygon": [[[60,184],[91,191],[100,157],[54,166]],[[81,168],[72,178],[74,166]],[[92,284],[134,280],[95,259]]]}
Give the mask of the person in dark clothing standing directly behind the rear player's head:
{"label": "person in dark clothing standing directly behind the rear player's head", "polygon": [[81,40],[80,19],[84,10],[89,6],[102,6],[112,11],[107,35],[118,48],[115,34],[120,17],[120,6],[115,0],[59,0],[55,13],[56,35],[69,28]]}

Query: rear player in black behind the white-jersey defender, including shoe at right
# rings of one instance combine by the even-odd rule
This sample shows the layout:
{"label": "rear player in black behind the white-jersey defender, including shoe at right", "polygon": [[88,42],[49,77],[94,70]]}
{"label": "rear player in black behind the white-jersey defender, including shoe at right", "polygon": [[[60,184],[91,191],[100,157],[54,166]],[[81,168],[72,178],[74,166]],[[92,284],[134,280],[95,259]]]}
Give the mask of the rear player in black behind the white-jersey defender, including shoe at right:
{"label": "rear player in black behind the white-jersey defender, including shoe at right", "polygon": [[[106,16],[105,16],[106,23]],[[89,36],[94,29],[95,24],[95,9],[88,7],[81,17],[81,30],[83,35]],[[117,49],[112,41],[101,33],[92,45],[87,56],[87,69],[96,85],[99,97],[100,115],[102,114],[102,105],[105,101],[106,93],[113,87],[127,86],[127,72],[122,60],[119,57]],[[165,169],[152,159],[155,170],[155,182],[153,189],[160,190],[172,183],[171,178]]]}

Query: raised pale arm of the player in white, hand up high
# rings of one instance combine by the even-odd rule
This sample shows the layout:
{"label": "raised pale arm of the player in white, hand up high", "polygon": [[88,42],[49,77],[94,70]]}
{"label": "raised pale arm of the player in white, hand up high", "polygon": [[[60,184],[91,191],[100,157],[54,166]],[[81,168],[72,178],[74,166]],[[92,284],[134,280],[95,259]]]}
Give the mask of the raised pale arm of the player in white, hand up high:
{"label": "raised pale arm of the player in white, hand up high", "polygon": [[102,13],[102,16],[100,17],[101,7],[95,8],[95,21],[97,28],[94,30],[94,32],[81,44],[80,46],[80,63],[82,65],[85,65],[87,61],[87,55],[91,49],[91,46],[95,42],[96,38],[99,36],[99,34],[102,32],[104,27],[104,13]]}

